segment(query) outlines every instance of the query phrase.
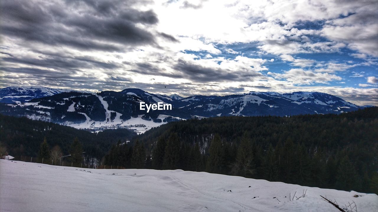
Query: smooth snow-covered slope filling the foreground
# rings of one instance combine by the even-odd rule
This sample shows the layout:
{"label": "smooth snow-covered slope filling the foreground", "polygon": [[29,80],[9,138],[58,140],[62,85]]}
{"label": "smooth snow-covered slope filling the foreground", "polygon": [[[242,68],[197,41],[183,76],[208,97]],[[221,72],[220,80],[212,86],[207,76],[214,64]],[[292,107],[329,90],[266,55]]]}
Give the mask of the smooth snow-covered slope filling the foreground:
{"label": "smooth snow-covered slope filling the foreground", "polygon": [[[289,201],[289,193],[299,197],[303,189],[306,197]],[[377,195],[353,191],[206,172],[81,169],[0,160],[1,211],[339,211],[319,195],[341,206],[355,201],[358,212],[378,211]]]}

